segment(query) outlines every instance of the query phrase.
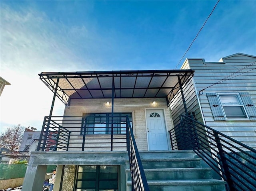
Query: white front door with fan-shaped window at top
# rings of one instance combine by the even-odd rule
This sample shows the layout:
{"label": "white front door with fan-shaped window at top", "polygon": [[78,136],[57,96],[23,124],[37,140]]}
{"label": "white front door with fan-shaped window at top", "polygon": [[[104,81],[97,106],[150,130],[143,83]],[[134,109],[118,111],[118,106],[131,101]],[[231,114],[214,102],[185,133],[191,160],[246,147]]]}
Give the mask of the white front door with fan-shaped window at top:
{"label": "white front door with fan-shaped window at top", "polygon": [[148,150],[168,150],[163,110],[146,110]]}

